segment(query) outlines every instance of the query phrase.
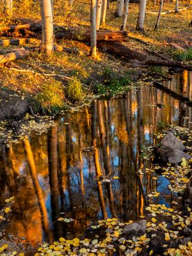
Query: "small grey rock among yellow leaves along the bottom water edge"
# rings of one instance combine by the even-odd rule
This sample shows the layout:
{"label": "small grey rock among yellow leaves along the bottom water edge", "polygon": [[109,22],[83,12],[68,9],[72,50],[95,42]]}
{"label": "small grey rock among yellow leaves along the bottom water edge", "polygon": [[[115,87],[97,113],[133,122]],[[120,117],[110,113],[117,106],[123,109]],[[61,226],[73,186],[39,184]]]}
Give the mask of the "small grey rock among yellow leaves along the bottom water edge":
{"label": "small grey rock among yellow leaves along the bottom water edge", "polygon": [[147,221],[140,220],[136,223],[131,223],[130,225],[126,225],[123,230],[123,234],[133,237],[133,236],[142,236],[145,234],[147,229]]}

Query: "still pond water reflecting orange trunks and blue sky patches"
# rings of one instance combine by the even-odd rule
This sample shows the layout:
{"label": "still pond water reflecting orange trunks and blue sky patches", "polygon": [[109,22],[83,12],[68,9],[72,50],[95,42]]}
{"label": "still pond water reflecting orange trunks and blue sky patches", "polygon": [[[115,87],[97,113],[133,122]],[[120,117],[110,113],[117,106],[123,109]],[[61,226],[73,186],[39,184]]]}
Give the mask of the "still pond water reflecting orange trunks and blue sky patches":
{"label": "still pond water reflecting orange trunks and blue sky patches", "polygon": [[[192,99],[191,78],[185,71],[163,84]],[[101,218],[138,220],[152,191],[161,191],[159,203],[170,205],[168,180],[145,170],[153,168],[147,152],[163,125],[189,128],[191,115],[192,109],[172,95],[143,86],[66,113],[47,134],[2,147],[0,204],[13,195],[15,204],[1,231],[35,245],[77,236]]]}

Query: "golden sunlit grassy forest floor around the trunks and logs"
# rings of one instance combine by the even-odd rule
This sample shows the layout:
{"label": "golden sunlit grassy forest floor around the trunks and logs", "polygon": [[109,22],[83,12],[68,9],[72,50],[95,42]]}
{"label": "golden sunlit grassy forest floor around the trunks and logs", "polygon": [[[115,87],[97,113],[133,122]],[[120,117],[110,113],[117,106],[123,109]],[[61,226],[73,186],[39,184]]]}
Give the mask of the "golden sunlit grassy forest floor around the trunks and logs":
{"label": "golden sunlit grassy forest floor around the trunks and logs", "polygon": [[[38,3],[25,2],[22,8],[16,3],[13,11],[14,19],[1,19],[0,26],[39,21],[40,6]],[[54,24],[76,27],[89,26],[89,3],[84,0],[78,1],[78,3],[74,3],[72,10],[68,8],[67,4],[64,4],[63,10],[61,10],[60,4],[60,1],[55,3]],[[180,3],[180,9],[186,6],[188,9],[182,12],[162,15],[158,31],[154,31],[157,14],[146,13],[145,31],[139,33],[135,29],[138,4],[130,3],[127,20],[128,41],[125,44],[129,45],[131,49],[147,53],[152,58],[154,58],[152,51],[172,59],[178,58],[180,53],[173,51],[170,42],[176,42],[181,46],[184,46],[185,41],[192,42],[192,28],[189,26],[191,5]],[[115,3],[111,3],[105,29],[120,29],[122,18],[114,16],[115,8]],[[157,12],[158,8],[159,6],[154,8],[152,3],[147,4],[147,11]],[[174,3],[164,3],[163,11],[174,10],[174,8]],[[5,37],[0,39],[3,38]],[[10,34],[6,38],[17,38],[17,35]],[[66,109],[77,109],[79,106],[89,103],[95,95],[96,97],[104,94],[116,95],[130,90],[132,86],[139,86],[146,80],[152,81],[157,77],[162,79],[167,76],[168,68],[129,68],[125,58],[119,58],[100,50],[95,61],[88,56],[90,45],[83,42],[60,40],[56,44],[78,49],[80,54],[53,52],[47,58],[42,53],[33,52],[24,60],[17,60],[0,66],[1,134],[5,134],[5,131],[12,131],[12,128],[16,131],[23,122],[24,125],[29,126],[26,119],[17,122],[26,113],[29,115],[62,113]],[[29,43],[23,44],[23,46],[25,45],[28,47],[40,46],[40,39],[30,38]],[[3,53],[6,49],[8,48],[1,46],[0,52]],[[11,46],[9,49],[15,49],[15,46]],[[192,55],[191,52],[189,54]],[[189,56],[189,60],[191,60],[190,58],[192,59]],[[42,123],[44,123],[45,118],[43,118]],[[10,127],[7,121],[4,122],[5,119],[8,122],[14,120],[14,124],[12,122],[13,125]],[[47,119],[49,120],[49,118]],[[47,121],[45,123],[46,127],[49,126],[49,121],[48,124]],[[4,141],[5,138],[6,136],[1,136],[0,139]]]}

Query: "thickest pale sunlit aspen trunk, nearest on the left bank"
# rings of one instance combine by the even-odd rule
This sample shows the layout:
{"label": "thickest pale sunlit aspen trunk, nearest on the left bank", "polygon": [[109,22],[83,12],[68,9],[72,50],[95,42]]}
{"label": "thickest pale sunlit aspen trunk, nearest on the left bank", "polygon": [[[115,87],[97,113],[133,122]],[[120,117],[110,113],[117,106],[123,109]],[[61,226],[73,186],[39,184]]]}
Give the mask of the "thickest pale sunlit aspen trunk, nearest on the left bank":
{"label": "thickest pale sunlit aspen trunk, nearest on the left bank", "polygon": [[51,0],[41,0],[42,51],[50,55],[53,50],[53,22]]}

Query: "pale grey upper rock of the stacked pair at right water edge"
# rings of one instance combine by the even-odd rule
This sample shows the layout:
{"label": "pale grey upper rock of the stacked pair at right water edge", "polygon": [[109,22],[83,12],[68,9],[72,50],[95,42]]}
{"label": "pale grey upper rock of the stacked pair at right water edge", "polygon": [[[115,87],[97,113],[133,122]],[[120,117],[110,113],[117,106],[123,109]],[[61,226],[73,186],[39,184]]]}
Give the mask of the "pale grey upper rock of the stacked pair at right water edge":
{"label": "pale grey upper rock of the stacked pair at right water edge", "polygon": [[164,136],[163,140],[161,141],[161,145],[169,148],[169,149],[179,149],[181,151],[185,150],[184,145],[180,140],[178,140],[172,132],[167,132]]}

